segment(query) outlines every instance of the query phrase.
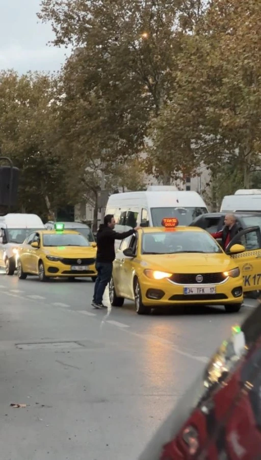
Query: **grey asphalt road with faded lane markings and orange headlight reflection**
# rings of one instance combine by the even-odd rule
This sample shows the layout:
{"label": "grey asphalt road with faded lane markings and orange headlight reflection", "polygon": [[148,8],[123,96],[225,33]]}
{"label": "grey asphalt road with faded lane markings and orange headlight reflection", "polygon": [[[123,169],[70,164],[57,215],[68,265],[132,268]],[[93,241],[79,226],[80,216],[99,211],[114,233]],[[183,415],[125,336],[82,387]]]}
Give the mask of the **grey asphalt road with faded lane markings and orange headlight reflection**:
{"label": "grey asphalt road with faded lane markings and orange headlight reflection", "polygon": [[1,460],[136,460],[255,303],[138,316],[94,310],[93,287],[0,275]]}

